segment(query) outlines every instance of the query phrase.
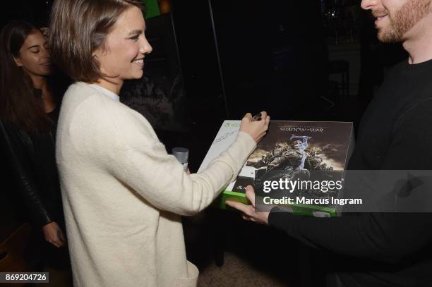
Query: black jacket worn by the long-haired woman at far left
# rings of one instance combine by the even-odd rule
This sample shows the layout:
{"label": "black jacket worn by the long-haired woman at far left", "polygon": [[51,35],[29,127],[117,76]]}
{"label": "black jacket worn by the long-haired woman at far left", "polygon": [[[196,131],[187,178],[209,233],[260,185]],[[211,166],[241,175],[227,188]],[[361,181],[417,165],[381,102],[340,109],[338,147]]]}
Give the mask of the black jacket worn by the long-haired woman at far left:
{"label": "black jacket worn by the long-haired woman at far left", "polygon": [[30,133],[0,121],[0,147],[6,157],[2,161],[13,176],[6,192],[22,203],[28,220],[37,227],[52,221],[63,225],[54,131],[55,126],[51,133]]}

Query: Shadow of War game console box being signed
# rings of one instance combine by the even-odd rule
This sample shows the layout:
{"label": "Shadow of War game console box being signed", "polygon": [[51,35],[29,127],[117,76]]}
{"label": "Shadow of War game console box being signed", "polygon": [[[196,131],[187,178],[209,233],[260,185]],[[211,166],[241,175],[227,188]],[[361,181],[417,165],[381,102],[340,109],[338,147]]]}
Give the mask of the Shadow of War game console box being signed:
{"label": "Shadow of War game console box being signed", "polygon": [[[198,172],[234,142],[240,123],[222,123]],[[352,123],[272,121],[236,181],[224,188],[213,206],[230,209],[227,200],[248,204],[246,186],[253,185],[258,211],[277,205],[294,214],[336,216],[353,148]]]}

